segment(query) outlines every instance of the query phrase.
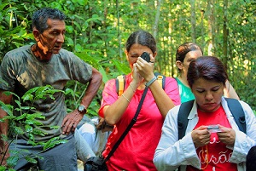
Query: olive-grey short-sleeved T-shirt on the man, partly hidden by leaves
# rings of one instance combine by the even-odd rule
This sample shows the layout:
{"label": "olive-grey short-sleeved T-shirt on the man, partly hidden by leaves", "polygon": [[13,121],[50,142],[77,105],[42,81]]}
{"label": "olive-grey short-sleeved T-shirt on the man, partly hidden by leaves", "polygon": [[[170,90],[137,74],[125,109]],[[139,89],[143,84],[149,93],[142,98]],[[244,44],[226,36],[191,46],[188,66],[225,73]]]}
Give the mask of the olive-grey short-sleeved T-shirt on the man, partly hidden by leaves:
{"label": "olive-grey short-sleeved T-shirt on the man, partly hidden by leaves", "polygon": [[[9,51],[4,56],[0,77],[8,85],[0,82],[0,88],[12,91],[21,97],[27,90],[38,86],[51,85],[55,89],[64,90],[69,80],[88,83],[91,75],[92,67],[65,49],[61,49],[59,54],[53,54],[50,60],[42,61],[32,54],[31,46],[27,45]],[[29,112],[30,114],[41,112],[45,117],[45,119],[37,119],[38,122],[43,123],[43,126],[33,125],[34,128],[46,133],[45,136],[35,136],[36,141],[49,140],[61,135],[61,123],[67,115],[65,94],[55,93],[54,97],[55,100],[46,98],[35,101],[32,105],[35,109]],[[18,111],[14,112],[16,116],[20,115]],[[25,130],[24,125],[19,126]],[[52,129],[49,128],[50,126],[60,126],[60,128]],[[28,134],[20,135],[19,138],[28,140]]]}

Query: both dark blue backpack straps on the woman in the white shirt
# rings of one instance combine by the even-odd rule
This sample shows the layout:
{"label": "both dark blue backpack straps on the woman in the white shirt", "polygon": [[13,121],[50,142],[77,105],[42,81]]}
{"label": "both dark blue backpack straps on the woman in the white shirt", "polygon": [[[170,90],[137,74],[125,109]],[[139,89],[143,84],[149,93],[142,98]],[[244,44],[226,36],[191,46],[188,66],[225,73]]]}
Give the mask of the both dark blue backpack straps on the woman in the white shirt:
{"label": "both dark blue backpack straps on the woman in the white shirt", "polygon": [[[236,121],[238,128],[246,134],[246,120],[245,114],[238,100],[225,98],[228,102],[230,111]],[[189,100],[181,104],[177,113],[177,128],[178,128],[178,140],[181,140],[185,135],[188,123],[189,112],[192,109],[195,100]]]}

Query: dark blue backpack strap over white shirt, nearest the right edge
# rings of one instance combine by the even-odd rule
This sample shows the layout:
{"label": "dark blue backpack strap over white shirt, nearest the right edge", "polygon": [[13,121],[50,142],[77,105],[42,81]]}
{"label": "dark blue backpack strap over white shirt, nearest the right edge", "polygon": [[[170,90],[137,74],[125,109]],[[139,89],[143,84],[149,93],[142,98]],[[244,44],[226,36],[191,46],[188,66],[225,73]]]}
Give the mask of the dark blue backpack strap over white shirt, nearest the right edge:
{"label": "dark blue backpack strap over white shirt, nearest the right edge", "polygon": [[241,107],[240,102],[238,100],[230,99],[230,98],[225,98],[225,100],[228,102],[229,109],[236,121],[238,128],[243,133],[246,134],[247,133],[246,119],[245,119],[245,114]]}

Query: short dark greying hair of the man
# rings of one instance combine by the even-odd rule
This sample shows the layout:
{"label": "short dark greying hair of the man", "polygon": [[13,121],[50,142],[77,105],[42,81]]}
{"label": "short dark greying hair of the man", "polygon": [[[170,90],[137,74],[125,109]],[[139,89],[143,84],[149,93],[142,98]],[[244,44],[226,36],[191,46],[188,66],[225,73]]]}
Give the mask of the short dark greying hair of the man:
{"label": "short dark greying hair of the man", "polygon": [[44,32],[48,28],[48,19],[65,20],[66,15],[59,9],[39,9],[32,15],[32,28],[35,27],[40,33]]}

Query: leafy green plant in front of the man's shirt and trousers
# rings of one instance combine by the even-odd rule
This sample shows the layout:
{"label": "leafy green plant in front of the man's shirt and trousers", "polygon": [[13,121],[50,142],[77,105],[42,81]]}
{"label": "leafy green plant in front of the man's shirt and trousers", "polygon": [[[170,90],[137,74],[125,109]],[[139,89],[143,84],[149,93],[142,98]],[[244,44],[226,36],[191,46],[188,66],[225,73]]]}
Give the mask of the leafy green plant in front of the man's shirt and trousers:
{"label": "leafy green plant in front of the man's shirt and trousers", "polygon": [[[34,139],[34,135],[45,136],[45,133],[42,130],[35,128],[35,126],[47,127],[47,125],[43,125],[43,123],[38,122],[38,119],[45,118],[42,115],[42,113],[30,112],[32,109],[34,109],[34,107],[32,107],[32,104],[37,100],[45,100],[46,98],[50,98],[54,100],[53,94],[57,92],[62,92],[62,91],[58,89],[54,89],[49,85],[46,85],[44,87],[32,88],[28,90],[21,98],[12,92],[8,92],[8,91],[4,92],[4,94],[6,95],[12,94],[17,98],[17,100],[15,100],[15,104],[17,105],[16,108],[14,108],[13,105],[6,105],[2,101],[0,101],[0,107],[3,109],[3,111],[6,111],[8,114],[7,116],[1,118],[0,122],[5,122],[6,120],[9,121],[9,134],[12,135],[12,136],[9,136],[9,138],[13,137],[13,140],[15,140],[16,136],[26,133],[29,136],[29,140],[27,141],[27,143],[30,145],[42,145],[44,147],[43,151],[49,150],[50,148],[53,148],[55,145],[59,145],[67,142],[67,140],[61,140],[59,137],[52,138],[46,142],[44,141],[36,142]],[[26,101],[28,101],[29,104],[31,105],[23,106],[22,104],[24,104],[24,102]],[[19,111],[20,114],[14,115],[13,111]],[[25,129],[23,129],[19,125],[23,125]],[[50,128],[59,128],[59,127],[55,126]],[[9,140],[8,137],[4,134],[2,134],[2,140],[6,142],[13,141],[13,140]],[[16,162],[18,162],[18,160],[20,159],[19,157],[21,152],[24,152],[24,151],[16,151],[16,150],[11,151],[14,155],[12,157],[9,157],[7,160],[9,170],[12,170],[10,168],[13,168],[16,165]],[[37,160],[35,158],[40,157],[40,152],[38,154],[25,156],[24,158],[26,159],[27,162],[37,163]],[[2,162],[3,161],[1,161],[1,165],[2,165]],[[3,170],[5,169],[4,167],[2,168]]]}

